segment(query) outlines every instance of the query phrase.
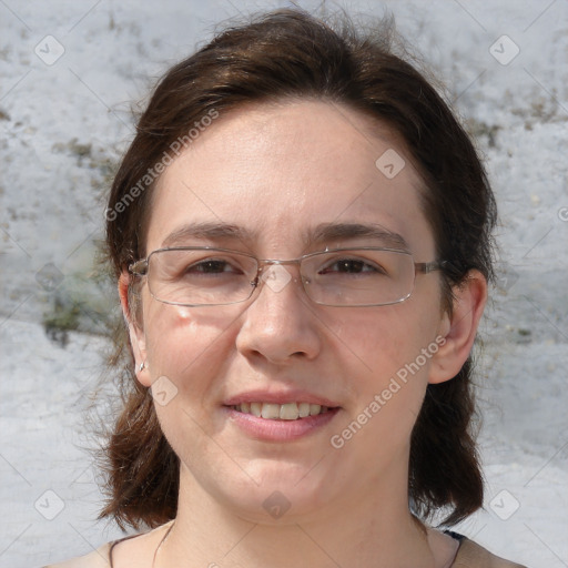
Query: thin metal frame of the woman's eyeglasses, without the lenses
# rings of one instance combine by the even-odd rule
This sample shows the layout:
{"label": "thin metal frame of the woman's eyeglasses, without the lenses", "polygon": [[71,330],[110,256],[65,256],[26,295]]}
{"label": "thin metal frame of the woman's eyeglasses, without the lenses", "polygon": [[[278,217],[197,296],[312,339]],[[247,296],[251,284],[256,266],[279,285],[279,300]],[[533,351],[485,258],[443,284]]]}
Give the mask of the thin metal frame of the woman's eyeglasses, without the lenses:
{"label": "thin metal frame of the woman's eyeglasses, without the lenses", "polygon": [[[394,302],[382,303],[382,304],[358,304],[358,305],[325,304],[325,303],[316,302],[315,300],[313,300],[310,296],[310,294],[305,287],[304,278],[302,277],[302,273],[300,272],[300,276],[301,276],[300,280],[302,281],[302,288],[304,290],[304,292],[305,292],[306,296],[310,298],[310,301],[316,305],[323,305],[323,306],[328,306],[328,307],[388,306],[388,305],[399,304],[410,297],[412,293],[414,292],[414,283],[416,282],[416,275],[418,273],[429,274],[430,272],[440,271],[444,268],[444,266],[446,264],[446,261],[414,262],[414,256],[413,256],[412,252],[405,251],[402,248],[390,248],[390,247],[385,247],[385,246],[352,246],[352,247],[341,247],[341,248],[326,248],[325,251],[316,251],[313,253],[303,254],[302,256],[298,256],[297,258],[291,258],[287,261],[282,261],[278,258],[257,258],[256,256],[254,256],[253,254],[250,254],[250,253],[245,253],[242,251],[235,251],[233,248],[221,248],[221,247],[216,247],[216,246],[172,246],[172,247],[155,248],[145,258],[140,258],[138,261],[134,261],[133,263],[129,264],[129,272],[134,276],[148,276],[148,271],[150,270],[150,257],[154,253],[160,253],[160,252],[164,252],[164,251],[214,251],[214,252],[232,253],[232,254],[239,254],[242,256],[247,256],[248,258],[252,258],[256,262],[256,265],[257,265],[256,277],[253,281],[250,281],[251,294],[248,294],[248,296],[246,298],[237,300],[236,302],[223,302],[221,304],[185,304],[185,303],[181,303],[181,302],[168,302],[165,300],[160,300],[159,297],[156,297],[154,295],[154,293],[150,290],[150,286],[149,286],[150,294],[152,295],[152,297],[155,301],[162,302],[162,304],[168,304],[168,305],[173,305],[173,306],[183,306],[183,307],[210,307],[210,306],[214,307],[214,306],[229,306],[229,305],[233,305],[233,304],[242,304],[242,303],[246,302],[247,300],[251,300],[254,292],[256,290],[261,288],[262,272],[265,266],[267,266],[267,265],[268,266],[273,266],[273,265],[282,266],[284,264],[297,264],[298,271],[300,271],[301,266],[302,266],[302,262],[305,258],[310,258],[312,256],[317,256],[320,254],[342,252],[342,251],[385,251],[385,252],[392,252],[392,253],[398,253],[398,254],[406,254],[406,255],[410,256],[413,260],[413,265],[414,265],[414,278],[413,278],[413,287],[412,287],[410,292],[408,292],[408,294],[406,296],[404,296],[399,300],[396,300]],[[139,266],[143,267],[142,268],[143,272],[139,268]],[[297,282],[297,278],[293,278],[293,280],[294,280],[294,282]]]}

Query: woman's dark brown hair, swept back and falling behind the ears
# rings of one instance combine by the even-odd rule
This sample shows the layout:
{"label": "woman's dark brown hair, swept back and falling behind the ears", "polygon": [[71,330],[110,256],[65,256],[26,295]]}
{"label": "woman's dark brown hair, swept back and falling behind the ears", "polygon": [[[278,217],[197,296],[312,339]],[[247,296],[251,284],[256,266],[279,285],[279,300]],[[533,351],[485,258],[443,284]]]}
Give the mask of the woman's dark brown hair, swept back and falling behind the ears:
{"label": "woman's dark brown hair, swept back and falling behind the ears", "polygon": [[[212,111],[223,115],[247,102],[290,97],[348,105],[402,136],[426,186],[424,210],[437,257],[446,261],[445,308],[450,310],[452,286],[470,268],[491,277],[495,202],[471,141],[423,74],[394,53],[388,22],[369,32],[345,17],[339,23],[300,10],[271,12],[217,34],[165,74],[109,197],[106,244],[115,277],[146,254],[143,226],[153,182],[145,176],[172,144]],[[179,459],[152,397],[135,379],[124,328],[118,347],[124,406],[105,448],[110,499],[101,517],[154,527],[175,517]],[[427,387],[409,458],[410,505],[419,517],[447,508],[445,523],[454,524],[483,504],[471,368],[469,358],[455,378]]]}

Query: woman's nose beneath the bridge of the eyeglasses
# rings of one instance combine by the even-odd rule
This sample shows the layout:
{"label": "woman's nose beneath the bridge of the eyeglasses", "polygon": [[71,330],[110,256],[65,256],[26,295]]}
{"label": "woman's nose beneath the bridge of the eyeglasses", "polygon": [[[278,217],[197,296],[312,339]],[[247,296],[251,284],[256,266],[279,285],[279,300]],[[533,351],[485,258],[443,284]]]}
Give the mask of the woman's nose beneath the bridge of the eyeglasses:
{"label": "woman's nose beneath the bridge of the eyeglasses", "polygon": [[263,273],[261,290],[243,314],[236,348],[246,357],[286,365],[313,359],[321,349],[316,306],[310,305],[297,268],[273,265]]}

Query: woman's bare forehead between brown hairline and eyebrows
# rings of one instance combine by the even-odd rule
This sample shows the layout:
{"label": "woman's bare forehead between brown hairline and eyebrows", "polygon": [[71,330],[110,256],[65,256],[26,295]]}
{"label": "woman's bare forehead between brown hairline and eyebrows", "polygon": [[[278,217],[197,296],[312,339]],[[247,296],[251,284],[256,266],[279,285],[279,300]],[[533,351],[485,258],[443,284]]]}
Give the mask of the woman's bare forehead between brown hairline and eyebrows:
{"label": "woman's bare forehead between brown hairline and eyebrows", "polygon": [[387,128],[344,105],[241,108],[203,129],[162,174],[148,250],[184,227],[217,224],[243,229],[264,254],[296,254],[316,227],[364,224],[427,254],[423,184],[408,158]]}

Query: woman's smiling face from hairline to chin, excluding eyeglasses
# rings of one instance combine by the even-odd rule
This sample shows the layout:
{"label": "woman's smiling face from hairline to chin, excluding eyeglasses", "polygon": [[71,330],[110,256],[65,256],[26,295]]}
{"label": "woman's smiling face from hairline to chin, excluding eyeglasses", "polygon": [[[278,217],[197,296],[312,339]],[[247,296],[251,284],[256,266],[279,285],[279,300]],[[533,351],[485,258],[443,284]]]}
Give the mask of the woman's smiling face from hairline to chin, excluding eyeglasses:
{"label": "woman's smiling face from hairline to chin, excluding eyeglasses", "polygon": [[[166,169],[146,250],[219,246],[290,260],[392,246],[398,237],[382,231],[430,262],[420,187],[404,148],[356,111],[313,101],[248,106],[214,121]],[[354,224],[377,234],[352,234]],[[277,272],[282,286],[263,284],[231,306],[168,305],[143,286],[141,381],[166,377],[154,386],[156,412],[182,479],[255,521],[276,518],[273,506],[290,505],[293,519],[371,501],[374,490],[406,498],[410,432],[447,333],[438,273],[418,274],[398,304],[329,307],[310,301],[297,266],[284,268],[290,282]],[[274,420],[235,409],[240,402],[334,409]]]}

